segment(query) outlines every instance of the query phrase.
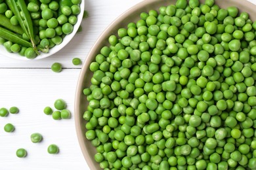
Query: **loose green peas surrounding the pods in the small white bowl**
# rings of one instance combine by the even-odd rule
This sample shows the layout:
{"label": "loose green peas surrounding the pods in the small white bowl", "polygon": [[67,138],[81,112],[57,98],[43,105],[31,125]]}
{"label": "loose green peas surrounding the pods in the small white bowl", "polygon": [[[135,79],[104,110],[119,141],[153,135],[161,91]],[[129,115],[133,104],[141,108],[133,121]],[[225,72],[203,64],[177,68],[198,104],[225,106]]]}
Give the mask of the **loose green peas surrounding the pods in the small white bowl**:
{"label": "loose green peas surrounding the pods in the small white bowl", "polygon": [[[27,9],[33,22],[35,45],[42,52],[48,52],[49,48],[60,44],[64,37],[73,31],[77,23],[77,14],[80,10],[81,0],[31,0],[27,2]],[[0,14],[9,18],[13,27],[19,26],[18,17],[8,8],[5,1],[0,1]],[[30,42],[26,33],[20,35],[22,39]],[[0,44],[3,44],[7,51],[26,56],[33,59],[37,56],[32,47],[21,46],[17,42],[7,41],[0,37]]]}

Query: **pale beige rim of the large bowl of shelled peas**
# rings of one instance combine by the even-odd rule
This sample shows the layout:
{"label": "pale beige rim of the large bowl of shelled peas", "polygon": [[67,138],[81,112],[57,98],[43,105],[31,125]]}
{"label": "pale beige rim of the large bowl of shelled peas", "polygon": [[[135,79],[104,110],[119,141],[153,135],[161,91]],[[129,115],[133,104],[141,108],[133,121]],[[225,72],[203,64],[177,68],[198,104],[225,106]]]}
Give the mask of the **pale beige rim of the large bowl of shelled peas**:
{"label": "pale beige rim of the large bowl of shelled peas", "polygon": [[[79,146],[81,149],[81,152],[83,154],[83,157],[85,158],[85,161],[87,162],[87,165],[89,166],[90,169],[97,169],[97,167],[95,166],[96,161],[94,160],[94,158],[91,158],[91,156],[88,154],[89,150],[86,147],[86,144],[84,141],[87,141],[87,139],[85,138],[85,134],[83,134],[82,131],[82,127],[84,127],[84,124],[81,124],[81,121],[85,122],[85,120],[82,120],[82,114],[81,114],[81,97],[85,97],[83,96],[83,85],[84,85],[84,80],[85,80],[85,73],[90,73],[89,71],[89,65],[90,65],[90,61],[93,61],[93,59],[95,58],[95,54],[97,54],[97,52],[99,52],[100,47],[102,47],[104,44],[104,42],[107,41],[108,36],[112,35],[113,30],[116,29],[116,25],[119,25],[121,22],[123,22],[123,20],[125,18],[127,18],[130,14],[132,14],[132,12],[136,12],[139,9],[142,9],[143,7],[145,7],[146,5],[150,5],[152,3],[168,3],[168,4],[173,4],[173,2],[176,0],[143,0],[140,3],[137,3],[136,5],[134,5],[133,7],[125,10],[125,12],[123,12],[120,16],[118,16],[113,22],[111,22],[108,27],[106,27],[106,29],[104,29],[104,31],[102,31],[102,33],[100,34],[100,36],[96,39],[95,43],[93,44],[93,46],[91,47],[91,50],[89,51],[89,54],[87,55],[87,58],[85,58],[85,61],[83,62],[83,65],[81,67],[81,71],[79,73],[79,77],[77,80],[77,87],[75,90],[75,102],[74,102],[74,119],[75,119],[75,131],[77,133],[77,140],[79,142]],[[202,1],[204,0],[200,0],[200,3],[202,3]],[[247,9],[249,10],[249,12],[253,12],[255,11],[255,7],[256,4],[251,3],[250,1],[244,0],[244,1],[240,1],[240,0],[215,0],[215,4],[217,5],[221,5],[221,3],[223,3],[222,1],[224,1],[224,3],[226,3],[226,5],[228,7],[231,7],[232,4],[236,3],[236,5],[238,6],[238,9],[241,9],[241,7],[243,9]],[[144,8],[146,9],[146,8]],[[152,8],[150,8],[152,9]],[[142,11],[141,11],[142,12]],[[241,11],[240,11],[241,12]],[[248,11],[246,11],[248,12]],[[248,12],[248,13],[249,13]],[[255,13],[255,12],[254,12]],[[252,16],[250,16],[250,18],[252,18]],[[253,16],[254,20],[256,20],[256,16]],[[128,22],[126,22],[126,25],[128,24]],[[88,79],[87,79],[88,80]],[[91,83],[91,80],[89,80]]]}

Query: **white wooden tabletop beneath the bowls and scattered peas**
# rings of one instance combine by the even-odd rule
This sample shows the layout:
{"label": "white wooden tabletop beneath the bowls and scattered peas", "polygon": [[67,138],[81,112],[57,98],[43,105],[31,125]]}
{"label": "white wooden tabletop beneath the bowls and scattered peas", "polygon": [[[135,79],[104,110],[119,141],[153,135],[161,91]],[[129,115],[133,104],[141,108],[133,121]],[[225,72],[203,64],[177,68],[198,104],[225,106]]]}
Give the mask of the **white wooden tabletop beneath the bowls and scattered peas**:
{"label": "white wooden tabletop beneath the bowls and scattered peas", "polygon": [[[142,0],[85,0],[89,18],[83,20],[83,31],[60,52],[38,61],[20,61],[1,56],[0,107],[16,106],[18,114],[0,118],[1,170],[80,170],[89,169],[83,158],[75,133],[74,98],[81,65],[74,66],[72,58],[85,60],[96,39],[125,10]],[[256,4],[256,0],[249,0]],[[54,62],[62,63],[61,73],[51,71]],[[72,110],[70,120],[53,120],[43,113],[62,98]],[[12,123],[16,129],[6,133],[3,127]],[[41,133],[43,141],[34,144],[32,133]],[[47,153],[49,144],[57,144],[60,153]],[[17,158],[16,150],[26,148],[28,156]]]}

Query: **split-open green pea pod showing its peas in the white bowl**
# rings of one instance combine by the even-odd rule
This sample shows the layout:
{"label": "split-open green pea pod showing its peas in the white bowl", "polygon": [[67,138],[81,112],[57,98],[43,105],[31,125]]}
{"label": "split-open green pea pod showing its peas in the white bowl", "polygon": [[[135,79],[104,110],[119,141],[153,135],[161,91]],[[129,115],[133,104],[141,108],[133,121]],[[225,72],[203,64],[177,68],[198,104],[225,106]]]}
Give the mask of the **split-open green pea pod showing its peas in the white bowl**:
{"label": "split-open green pea pod showing its peas in the white bowl", "polygon": [[[30,12],[28,12],[27,5],[24,0],[7,0],[7,5],[9,5],[10,9],[13,9],[12,12],[17,16],[18,22],[20,26],[29,37],[30,41],[32,42],[32,46],[34,50],[36,50],[34,34],[33,34],[33,22],[30,17]],[[19,7],[18,7],[19,6]],[[22,17],[20,12],[24,14]]]}

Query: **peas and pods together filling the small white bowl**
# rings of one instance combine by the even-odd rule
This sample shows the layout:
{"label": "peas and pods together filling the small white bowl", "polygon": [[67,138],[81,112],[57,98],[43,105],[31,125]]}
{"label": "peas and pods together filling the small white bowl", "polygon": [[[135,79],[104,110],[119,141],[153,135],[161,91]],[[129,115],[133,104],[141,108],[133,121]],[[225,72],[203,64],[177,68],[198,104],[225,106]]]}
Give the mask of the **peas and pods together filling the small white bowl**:
{"label": "peas and pods together filling the small white bowl", "polygon": [[0,44],[33,59],[60,44],[73,31],[79,14],[77,1],[7,0],[0,3]]}

